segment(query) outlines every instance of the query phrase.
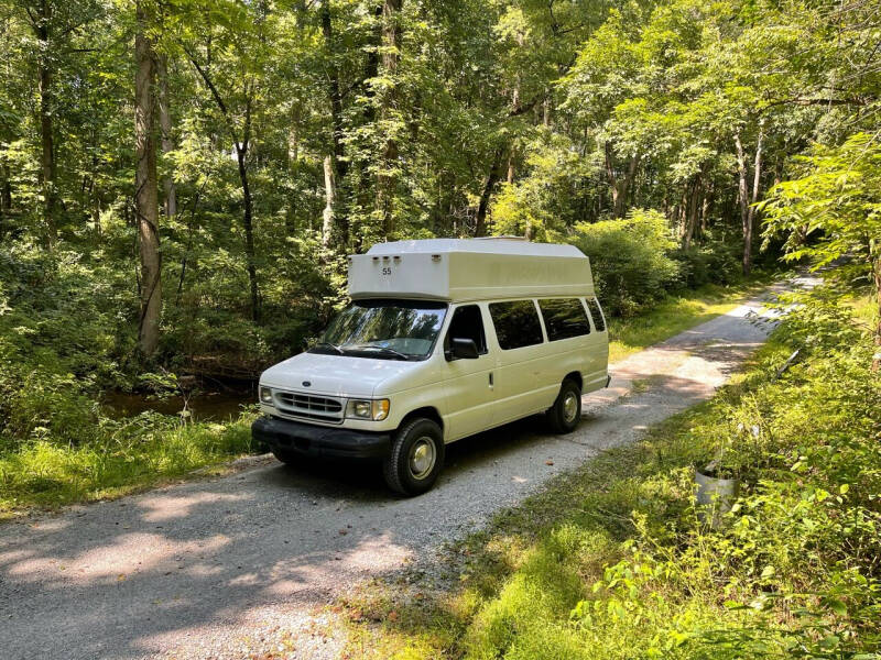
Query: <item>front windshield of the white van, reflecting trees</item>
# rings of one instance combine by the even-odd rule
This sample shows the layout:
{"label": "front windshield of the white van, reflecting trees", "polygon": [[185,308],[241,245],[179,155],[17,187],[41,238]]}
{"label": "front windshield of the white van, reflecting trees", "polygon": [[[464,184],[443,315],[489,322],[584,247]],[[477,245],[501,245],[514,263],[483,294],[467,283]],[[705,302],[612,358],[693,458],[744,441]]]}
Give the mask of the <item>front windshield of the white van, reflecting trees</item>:
{"label": "front windshield of the white van, reflecting trees", "polygon": [[432,351],[446,314],[445,302],[356,300],[309,352],[422,360]]}

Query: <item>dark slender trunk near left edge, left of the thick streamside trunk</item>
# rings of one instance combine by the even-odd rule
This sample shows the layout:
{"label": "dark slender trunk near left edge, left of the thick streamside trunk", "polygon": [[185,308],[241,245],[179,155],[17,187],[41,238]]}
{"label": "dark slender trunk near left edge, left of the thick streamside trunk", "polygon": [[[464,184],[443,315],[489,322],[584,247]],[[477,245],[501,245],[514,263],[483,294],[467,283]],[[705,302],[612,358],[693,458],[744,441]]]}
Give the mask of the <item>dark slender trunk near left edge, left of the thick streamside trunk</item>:
{"label": "dark slender trunk near left edge, left of the thick streamside trunk", "polygon": [[53,68],[51,54],[50,25],[52,22],[52,4],[48,0],[41,0],[36,6],[35,22],[32,23],[34,33],[40,42],[40,56],[37,58],[37,75],[40,77],[40,183],[43,193],[43,222],[46,231],[46,243],[52,246],[58,238],[56,221],[57,188],[55,167],[55,127],[53,121]]}

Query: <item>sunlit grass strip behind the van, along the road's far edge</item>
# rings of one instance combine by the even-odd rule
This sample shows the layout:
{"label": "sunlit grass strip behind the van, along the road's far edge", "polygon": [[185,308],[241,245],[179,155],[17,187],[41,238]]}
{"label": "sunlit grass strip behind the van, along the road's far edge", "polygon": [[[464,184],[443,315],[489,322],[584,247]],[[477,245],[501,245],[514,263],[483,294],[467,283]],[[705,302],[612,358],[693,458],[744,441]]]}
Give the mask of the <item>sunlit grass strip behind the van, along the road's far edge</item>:
{"label": "sunlit grass strip behind the van, along the road's far edge", "polygon": [[708,284],[670,294],[643,315],[609,319],[609,362],[618,362],[660,341],[732,310],[782,273],[763,271],[728,286]]}

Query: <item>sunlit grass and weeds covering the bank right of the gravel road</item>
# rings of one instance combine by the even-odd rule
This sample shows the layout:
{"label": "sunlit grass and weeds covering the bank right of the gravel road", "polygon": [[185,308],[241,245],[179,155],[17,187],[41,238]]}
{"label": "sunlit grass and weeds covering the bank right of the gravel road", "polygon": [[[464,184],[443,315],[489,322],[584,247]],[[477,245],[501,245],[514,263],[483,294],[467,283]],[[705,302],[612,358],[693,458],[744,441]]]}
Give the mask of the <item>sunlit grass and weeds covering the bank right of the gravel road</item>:
{"label": "sunlit grass and weeds covering the bank right of the gravel road", "polygon": [[[501,512],[438,566],[349,597],[344,657],[881,658],[881,377],[864,333],[838,330],[777,376],[788,332],[714,399]],[[714,530],[693,470],[729,435],[743,491]]]}

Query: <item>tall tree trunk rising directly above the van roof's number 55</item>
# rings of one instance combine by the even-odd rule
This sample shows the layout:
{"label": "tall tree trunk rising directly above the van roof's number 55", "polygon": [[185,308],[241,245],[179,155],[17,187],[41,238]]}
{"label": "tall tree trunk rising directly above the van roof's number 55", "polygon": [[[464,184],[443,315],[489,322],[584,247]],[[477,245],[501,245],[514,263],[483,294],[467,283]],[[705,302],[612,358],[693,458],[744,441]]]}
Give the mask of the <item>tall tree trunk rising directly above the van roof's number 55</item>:
{"label": "tall tree trunk rising directly above the van roof's number 55", "polygon": [[382,222],[382,234],[389,239],[394,232],[394,186],[396,183],[398,141],[389,130],[396,101],[394,79],[398,73],[398,53],[401,44],[401,30],[398,25],[402,0],[384,0],[382,3],[382,74],[392,80],[382,92],[381,121],[385,128],[385,142],[382,146],[380,170],[377,177],[377,211]]}

